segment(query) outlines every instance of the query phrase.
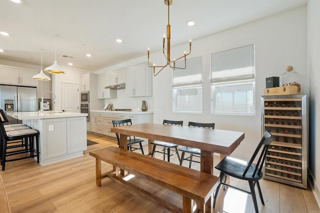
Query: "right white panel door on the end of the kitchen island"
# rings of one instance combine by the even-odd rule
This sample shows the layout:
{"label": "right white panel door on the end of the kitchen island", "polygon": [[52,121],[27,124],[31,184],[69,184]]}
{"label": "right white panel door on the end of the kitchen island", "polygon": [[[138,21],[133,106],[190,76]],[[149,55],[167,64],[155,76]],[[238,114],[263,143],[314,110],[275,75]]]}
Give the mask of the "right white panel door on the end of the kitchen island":
{"label": "right white panel door on the end of the kitchen island", "polygon": [[[67,154],[86,150],[86,118],[66,118]],[[82,134],[79,134],[82,133]]]}

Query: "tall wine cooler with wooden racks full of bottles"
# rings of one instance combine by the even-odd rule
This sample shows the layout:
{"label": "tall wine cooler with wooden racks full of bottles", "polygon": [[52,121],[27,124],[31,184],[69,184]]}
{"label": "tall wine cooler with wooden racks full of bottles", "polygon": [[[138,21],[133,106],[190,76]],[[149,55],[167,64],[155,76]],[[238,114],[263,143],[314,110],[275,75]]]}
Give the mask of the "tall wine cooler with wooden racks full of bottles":
{"label": "tall wine cooler with wooden racks full of bottles", "polygon": [[261,106],[262,130],[274,136],[263,178],[306,189],[306,96],[262,96]]}

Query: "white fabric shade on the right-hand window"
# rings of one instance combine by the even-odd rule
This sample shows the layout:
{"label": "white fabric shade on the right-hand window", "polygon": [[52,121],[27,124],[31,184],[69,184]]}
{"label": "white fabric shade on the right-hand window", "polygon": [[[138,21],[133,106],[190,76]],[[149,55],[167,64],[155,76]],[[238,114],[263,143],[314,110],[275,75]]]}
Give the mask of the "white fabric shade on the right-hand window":
{"label": "white fabric shade on the right-hand window", "polygon": [[254,80],[254,45],[211,54],[211,83]]}

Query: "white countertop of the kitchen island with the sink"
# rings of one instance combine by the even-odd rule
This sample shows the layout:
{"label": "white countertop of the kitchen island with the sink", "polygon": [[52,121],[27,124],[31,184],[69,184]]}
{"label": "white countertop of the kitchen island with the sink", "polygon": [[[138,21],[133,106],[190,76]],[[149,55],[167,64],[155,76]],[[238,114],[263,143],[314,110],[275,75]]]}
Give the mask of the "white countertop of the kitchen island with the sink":
{"label": "white countertop of the kitchen island with the sink", "polygon": [[51,118],[71,118],[71,117],[86,117],[86,113],[78,112],[61,112],[61,111],[44,111],[43,113],[37,112],[7,112],[8,116],[18,120],[29,119],[51,119]]}

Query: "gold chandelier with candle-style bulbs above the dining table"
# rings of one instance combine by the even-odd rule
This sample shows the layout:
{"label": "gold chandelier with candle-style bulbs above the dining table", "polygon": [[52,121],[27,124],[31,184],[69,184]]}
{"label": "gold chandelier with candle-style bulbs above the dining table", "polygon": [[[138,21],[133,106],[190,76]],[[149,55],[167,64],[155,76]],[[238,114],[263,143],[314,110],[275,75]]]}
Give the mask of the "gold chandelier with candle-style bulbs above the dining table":
{"label": "gold chandelier with candle-style bulbs above the dining table", "polygon": [[[155,66],[154,64],[150,66],[149,63],[149,48],[148,48],[148,66],[153,68],[153,76],[156,76],[164,67],[171,67],[173,70],[174,69],[185,69],[186,68],[186,56],[191,53],[191,40],[189,40],[189,53],[185,53],[181,57],[177,59],[173,59],[172,61],[170,60],[170,22],[169,22],[169,6],[172,4],[172,0],[164,0],[164,4],[168,5],[168,24],[166,25],[166,55],[164,54],[164,43],[165,43],[165,36],[163,35],[163,40],[162,40],[162,52],[163,55],[166,59],[166,64],[164,66]],[[175,61],[184,58],[184,67],[176,67],[175,66]],[[173,63],[173,64],[172,64]],[[161,68],[158,72],[155,73],[155,68],[159,67]]]}

